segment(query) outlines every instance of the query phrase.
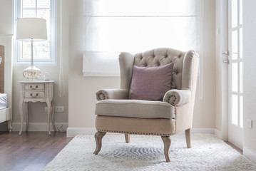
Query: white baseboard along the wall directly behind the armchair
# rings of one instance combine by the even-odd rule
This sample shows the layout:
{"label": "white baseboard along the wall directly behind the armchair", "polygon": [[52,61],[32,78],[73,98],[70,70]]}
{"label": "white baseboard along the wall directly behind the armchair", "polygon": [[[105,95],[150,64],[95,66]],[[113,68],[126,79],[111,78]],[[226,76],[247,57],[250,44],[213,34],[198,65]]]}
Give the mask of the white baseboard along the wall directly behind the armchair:
{"label": "white baseboard along the wall directly behind the armchair", "polygon": [[[215,128],[192,128],[192,133],[215,133]],[[94,135],[96,128],[68,127],[67,137],[75,137],[76,135]]]}

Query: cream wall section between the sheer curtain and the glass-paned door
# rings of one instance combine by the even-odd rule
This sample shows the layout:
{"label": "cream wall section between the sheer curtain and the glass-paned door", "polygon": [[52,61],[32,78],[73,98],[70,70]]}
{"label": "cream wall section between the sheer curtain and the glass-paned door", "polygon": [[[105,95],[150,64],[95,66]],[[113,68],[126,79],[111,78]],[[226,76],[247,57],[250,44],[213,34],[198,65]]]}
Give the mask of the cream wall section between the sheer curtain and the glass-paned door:
{"label": "cream wall section between the sheer curtain and the glass-paned door", "polygon": [[215,1],[203,1],[203,99],[199,83],[195,97],[193,128],[215,128]]}

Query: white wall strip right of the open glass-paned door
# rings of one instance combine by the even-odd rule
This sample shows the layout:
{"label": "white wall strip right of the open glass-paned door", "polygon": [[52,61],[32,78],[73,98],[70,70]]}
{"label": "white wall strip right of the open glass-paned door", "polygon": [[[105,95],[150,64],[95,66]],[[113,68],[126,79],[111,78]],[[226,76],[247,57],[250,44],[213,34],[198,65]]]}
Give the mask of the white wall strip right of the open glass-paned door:
{"label": "white wall strip right of the open glass-paned door", "polygon": [[[256,1],[243,1],[243,5],[244,155],[256,162]],[[247,119],[252,120],[252,129],[247,128]]]}

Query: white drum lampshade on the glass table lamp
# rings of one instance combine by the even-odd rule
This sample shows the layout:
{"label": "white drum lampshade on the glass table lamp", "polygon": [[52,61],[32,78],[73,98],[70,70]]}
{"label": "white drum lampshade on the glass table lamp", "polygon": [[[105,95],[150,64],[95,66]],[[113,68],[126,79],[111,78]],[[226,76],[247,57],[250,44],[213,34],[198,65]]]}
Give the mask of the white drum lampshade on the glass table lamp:
{"label": "white drum lampshade on the glass table lamp", "polygon": [[47,40],[46,20],[39,18],[24,18],[17,20],[16,39],[22,41],[45,41]]}

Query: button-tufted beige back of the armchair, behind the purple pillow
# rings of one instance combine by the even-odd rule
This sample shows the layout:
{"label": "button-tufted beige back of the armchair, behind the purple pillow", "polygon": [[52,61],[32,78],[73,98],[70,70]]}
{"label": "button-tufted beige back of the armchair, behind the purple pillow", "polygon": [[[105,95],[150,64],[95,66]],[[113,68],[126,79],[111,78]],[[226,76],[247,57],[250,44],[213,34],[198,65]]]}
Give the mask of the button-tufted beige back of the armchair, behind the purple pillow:
{"label": "button-tufted beige back of the armchair, behind the purple pillow", "polygon": [[[192,58],[190,57],[192,57],[194,53],[194,51],[183,52],[173,48],[155,48],[143,53],[136,53],[134,56],[130,53],[121,53],[119,56],[121,88],[130,89],[133,65],[152,67],[174,63],[171,89],[191,90]],[[127,58],[129,55],[130,58]]]}

